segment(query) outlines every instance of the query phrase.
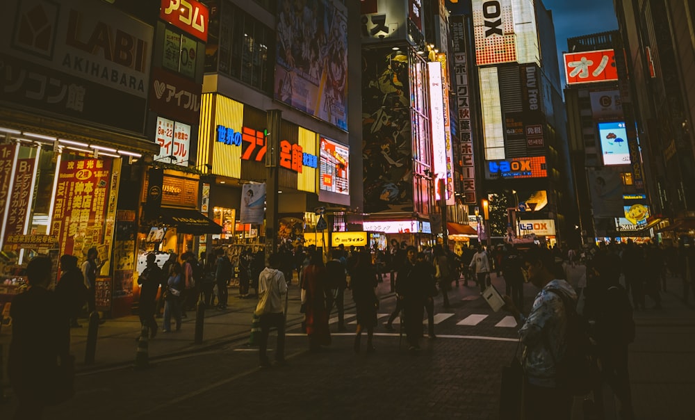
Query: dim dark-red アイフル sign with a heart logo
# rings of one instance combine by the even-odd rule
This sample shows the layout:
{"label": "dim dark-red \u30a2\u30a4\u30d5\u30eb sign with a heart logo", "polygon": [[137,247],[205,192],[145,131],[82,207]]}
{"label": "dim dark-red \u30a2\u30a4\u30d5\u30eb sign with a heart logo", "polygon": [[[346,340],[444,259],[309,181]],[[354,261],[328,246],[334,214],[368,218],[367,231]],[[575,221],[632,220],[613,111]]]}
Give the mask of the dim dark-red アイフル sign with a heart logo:
{"label": "dim dark-red \u30a2\u30a4\u30d5\u30eb sign with a heart logo", "polygon": [[149,108],[174,120],[197,124],[202,88],[202,85],[154,67],[149,86]]}

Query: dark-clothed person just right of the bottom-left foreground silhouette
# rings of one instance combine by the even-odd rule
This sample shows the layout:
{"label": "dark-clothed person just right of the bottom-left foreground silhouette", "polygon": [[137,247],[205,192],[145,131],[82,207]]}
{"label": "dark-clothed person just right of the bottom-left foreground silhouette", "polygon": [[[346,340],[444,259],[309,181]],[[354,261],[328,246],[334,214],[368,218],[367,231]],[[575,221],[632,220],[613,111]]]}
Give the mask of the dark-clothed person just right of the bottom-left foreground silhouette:
{"label": "dark-clothed person just right of the bottom-left foreground silhouette", "polygon": [[77,257],[63,255],[60,257],[60,281],[56,284],[56,297],[70,320],[70,328],[81,328],[77,323],[82,307],[87,302],[88,290],[84,277],[77,268]]}

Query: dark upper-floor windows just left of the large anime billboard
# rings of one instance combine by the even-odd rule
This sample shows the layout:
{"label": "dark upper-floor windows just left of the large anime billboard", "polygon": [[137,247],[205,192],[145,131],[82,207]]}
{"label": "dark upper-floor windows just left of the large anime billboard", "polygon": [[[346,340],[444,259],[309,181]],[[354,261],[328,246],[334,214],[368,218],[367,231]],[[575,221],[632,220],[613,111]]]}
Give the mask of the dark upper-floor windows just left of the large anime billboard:
{"label": "dark upper-floor windows just left of the large anime billboard", "polygon": [[[270,95],[274,80],[275,35],[236,5],[225,2],[219,19],[219,38],[208,42],[206,72],[220,72]],[[217,43],[217,49],[211,47]],[[214,51],[213,51],[214,50]],[[215,60],[215,58],[217,58]]]}

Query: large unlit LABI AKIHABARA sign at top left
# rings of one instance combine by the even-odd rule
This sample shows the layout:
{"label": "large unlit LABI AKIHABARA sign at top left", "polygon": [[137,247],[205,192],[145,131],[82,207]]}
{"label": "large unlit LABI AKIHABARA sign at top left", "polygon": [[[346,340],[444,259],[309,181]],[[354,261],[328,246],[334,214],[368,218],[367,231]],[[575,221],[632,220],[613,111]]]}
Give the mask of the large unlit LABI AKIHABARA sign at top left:
{"label": "large unlit LABI AKIHABARA sign at top left", "polygon": [[3,1],[2,11],[1,51],[147,98],[152,26],[104,1]]}

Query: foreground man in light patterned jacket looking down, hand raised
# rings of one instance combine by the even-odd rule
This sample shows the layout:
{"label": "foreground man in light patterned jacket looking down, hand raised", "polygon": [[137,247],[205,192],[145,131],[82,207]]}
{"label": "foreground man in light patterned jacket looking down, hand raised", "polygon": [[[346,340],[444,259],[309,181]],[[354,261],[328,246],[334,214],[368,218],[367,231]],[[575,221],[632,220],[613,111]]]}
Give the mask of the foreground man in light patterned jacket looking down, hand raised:
{"label": "foreground man in light patterned jacket looking down, hand raised", "polygon": [[526,419],[570,419],[573,392],[563,377],[568,360],[571,312],[577,294],[565,280],[558,280],[555,259],[549,250],[532,248],[524,256],[529,281],[541,291],[528,316],[519,312],[505,295],[505,309],[521,325],[519,334],[525,346],[523,368],[526,375],[523,410]]}

